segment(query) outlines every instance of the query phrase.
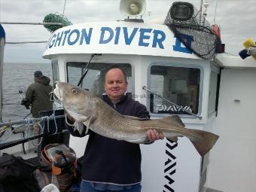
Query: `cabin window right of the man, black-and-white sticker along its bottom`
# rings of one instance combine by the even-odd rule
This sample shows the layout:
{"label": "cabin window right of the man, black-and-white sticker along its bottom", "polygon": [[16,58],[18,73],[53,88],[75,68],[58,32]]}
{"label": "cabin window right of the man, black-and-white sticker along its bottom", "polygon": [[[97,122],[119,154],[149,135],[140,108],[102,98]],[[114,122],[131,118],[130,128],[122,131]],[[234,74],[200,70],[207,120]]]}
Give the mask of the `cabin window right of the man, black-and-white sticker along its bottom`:
{"label": "cabin window right of the man, black-and-white sticker along its bottom", "polygon": [[[198,113],[200,69],[176,66],[151,66],[150,88],[154,93]],[[150,95],[150,111],[156,114],[187,114],[165,99]]]}

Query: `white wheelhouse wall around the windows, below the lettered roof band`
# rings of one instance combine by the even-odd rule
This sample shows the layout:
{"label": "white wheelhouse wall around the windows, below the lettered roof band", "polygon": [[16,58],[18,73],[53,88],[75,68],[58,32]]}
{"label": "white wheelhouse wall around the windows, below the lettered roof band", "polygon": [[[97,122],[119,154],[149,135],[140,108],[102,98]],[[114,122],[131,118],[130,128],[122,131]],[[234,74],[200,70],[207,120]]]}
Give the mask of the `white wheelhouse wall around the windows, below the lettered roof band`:
{"label": "white wheelhouse wall around the windows, below the lettered roof band", "polygon": [[[59,79],[60,81],[67,81],[66,77],[66,65],[68,61],[80,61],[87,62],[90,59],[90,54],[76,54],[76,55],[62,55],[56,57],[59,59]],[[200,98],[202,99],[202,105],[200,106],[201,116],[200,120],[197,117],[185,117],[182,120],[187,127],[192,129],[205,130],[205,123],[208,121],[208,102],[209,102],[209,74],[210,64],[202,59],[184,59],[184,58],[172,58],[165,56],[136,56],[136,55],[113,55],[102,54],[102,56],[96,56],[92,62],[109,62],[109,63],[130,63],[132,65],[133,72],[133,84],[134,84],[134,96],[137,101],[143,105],[148,104],[148,93],[142,90],[142,87],[149,86],[149,66],[152,63],[176,63],[177,66],[182,64],[184,66],[200,66],[201,79],[203,80],[200,87]],[[149,106],[148,106],[149,107]],[[149,108],[148,108],[149,109]],[[151,115],[154,118],[154,115]],[[166,160],[169,157],[166,156],[166,139],[163,141],[154,142],[152,145],[142,145],[142,191],[161,191],[164,189],[164,185],[168,184],[168,180],[165,178],[169,175],[169,172],[176,170],[173,179],[175,182],[170,186],[175,191],[190,191],[198,192],[200,187],[200,170],[201,170],[201,157],[195,150],[194,146],[187,138],[180,138],[178,140],[178,148],[170,151],[175,157],[177,165],[170,169],[169,172],[164,172]],[[78,138],[71,136],[70,147],[72,147],[78,157],[84,154],[84,149],[87,144],[87,137]],[[186,184],[184,185],[184,181]]]}

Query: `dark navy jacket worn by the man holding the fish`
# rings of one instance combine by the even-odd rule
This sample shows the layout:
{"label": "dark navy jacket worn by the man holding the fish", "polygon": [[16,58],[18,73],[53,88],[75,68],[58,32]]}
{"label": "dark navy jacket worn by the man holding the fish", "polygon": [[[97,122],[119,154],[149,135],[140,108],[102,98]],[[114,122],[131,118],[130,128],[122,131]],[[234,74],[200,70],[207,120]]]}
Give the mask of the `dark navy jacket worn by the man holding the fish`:
{"label": "dark navy jacket worn by the man holding the fish", "polygon": [[[113,105],[108,96],[103,96],[102,99],[120,114],[150,117],[145,105],[134,101],[130,96],[123,96],[116,105]],[[72,127],[66,126],[73,136],[85,135],[72,132]],[[136,184],[141,181],[142,156],[138,144],[109,139],[92,131],[89,133],[84,151],[82,179],[110,184]]]}

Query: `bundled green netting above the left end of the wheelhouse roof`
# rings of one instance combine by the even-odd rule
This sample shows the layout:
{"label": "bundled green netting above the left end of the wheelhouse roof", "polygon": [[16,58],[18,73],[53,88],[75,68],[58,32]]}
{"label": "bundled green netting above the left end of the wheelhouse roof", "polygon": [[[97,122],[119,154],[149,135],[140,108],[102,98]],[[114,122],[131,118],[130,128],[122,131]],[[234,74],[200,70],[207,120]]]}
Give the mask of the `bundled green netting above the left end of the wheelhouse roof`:
{"label": "bundled green netting above the left end of the wheelhouse roof", "polygon": [[[44,17],[44,23],[62,23],[62,26],[70,26],[72,25],[72,23],[68,20],[68,18],[66,18],[65,16],[63,16],[62,14],[59,13],[55,13],[55,14],[47,14],[47,16]],[[59,25],[44,25],[44,27],[50,31],[50,32],[54,32],[57,29],[61,28],[62,26]]]}

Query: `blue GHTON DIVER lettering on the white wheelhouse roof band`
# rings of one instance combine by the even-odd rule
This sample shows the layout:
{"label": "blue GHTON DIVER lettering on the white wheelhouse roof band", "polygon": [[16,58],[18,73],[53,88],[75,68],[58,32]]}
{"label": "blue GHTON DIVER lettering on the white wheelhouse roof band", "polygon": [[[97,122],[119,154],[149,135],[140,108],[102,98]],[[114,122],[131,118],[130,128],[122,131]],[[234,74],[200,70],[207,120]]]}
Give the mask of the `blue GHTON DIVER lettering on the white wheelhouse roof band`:
{"label": "blue GHTON DIVER lettering on the white wheelhouse roof band", "polygon": [[93,28],[67,29],[57,32],[50,38],[46,48],[89,45],[91,41],[96,41],[99,44],[133,44],[140,47],[164,49],[163,41],[165,40],[166,34],[157,29],[103,26],[99,29],[99,32],[96,32],[96,29]]}

